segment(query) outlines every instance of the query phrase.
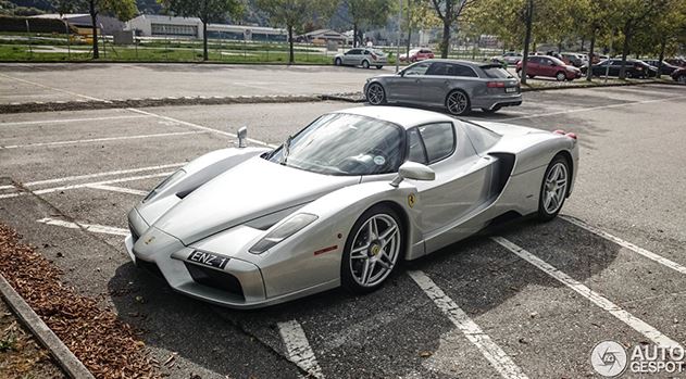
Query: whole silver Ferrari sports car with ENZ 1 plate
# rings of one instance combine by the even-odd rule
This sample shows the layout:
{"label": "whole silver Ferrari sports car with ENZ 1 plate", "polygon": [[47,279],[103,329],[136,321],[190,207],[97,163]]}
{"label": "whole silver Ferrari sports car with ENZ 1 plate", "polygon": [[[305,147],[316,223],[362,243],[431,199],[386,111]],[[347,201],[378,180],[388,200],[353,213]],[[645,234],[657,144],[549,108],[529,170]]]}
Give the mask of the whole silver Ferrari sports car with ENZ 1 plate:
{"label": "whole silver Ferrari sports car with ENZ 1 plate", "polygon": [[578,163],[571,132],[391,106],[322,115],[276,149],[242,146],[164,179],[129,212],[125,240],[174,290],[236,308],[369,292],[401,260],[506,213],[551,219]]}

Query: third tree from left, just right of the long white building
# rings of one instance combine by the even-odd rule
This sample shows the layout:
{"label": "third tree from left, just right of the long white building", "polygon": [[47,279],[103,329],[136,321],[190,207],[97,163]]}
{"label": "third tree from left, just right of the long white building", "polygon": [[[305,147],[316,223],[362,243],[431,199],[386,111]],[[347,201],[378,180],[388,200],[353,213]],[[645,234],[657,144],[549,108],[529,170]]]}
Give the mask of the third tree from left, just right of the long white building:
{"label": "third tree from left, just right of the long white building", "polygon": [[258,0],[258,8],[267,13],[272,22],[288,30],[288,63],[295,63],[294,30],[301,31],[314,18],[328,18],[335,3],[327,0]]}

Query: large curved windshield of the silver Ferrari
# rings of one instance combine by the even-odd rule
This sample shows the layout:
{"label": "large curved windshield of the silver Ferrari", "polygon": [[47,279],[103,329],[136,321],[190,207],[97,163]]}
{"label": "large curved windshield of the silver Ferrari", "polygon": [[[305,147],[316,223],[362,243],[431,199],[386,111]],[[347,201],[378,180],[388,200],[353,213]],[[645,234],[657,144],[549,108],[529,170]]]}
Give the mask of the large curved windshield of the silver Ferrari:
{"label": "large curved windshield of the silver Ferrari", "polygon": [[332,113],[314,121],[265,159],[325,175],[395,173],[402,163],[403,131],[385,121]]}

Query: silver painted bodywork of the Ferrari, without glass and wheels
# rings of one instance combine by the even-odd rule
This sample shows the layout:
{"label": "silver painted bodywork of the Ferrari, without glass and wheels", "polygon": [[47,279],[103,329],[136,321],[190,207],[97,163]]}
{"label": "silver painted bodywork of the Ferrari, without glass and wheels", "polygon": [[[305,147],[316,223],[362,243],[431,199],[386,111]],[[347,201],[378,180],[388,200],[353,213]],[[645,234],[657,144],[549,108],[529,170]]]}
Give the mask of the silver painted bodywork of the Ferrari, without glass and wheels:
{"label": "silver painted bodywork of the Ferrari, without glass and wheels", "polygon": [[[402,255],[414,260],[475,233],[507,212],[536,212],[546,167],[557,154],[570,159],[572,182],[577,172],[578,148],[565,136],[506,124],[477,126],[403,108],[339,112],[406,129],[449,122],[457,148],[429,165],[435,180],[406,179],[398,187],[390,185],[395,174],[330,176],[272,163],[260,156],[267,149],[211,152],[129,212],[132,236],[125,243],[132,260],[157,265],[178,292],[229,307],[260,307],[338,287],[346,239],[375,204],[389,204],[402,215]],[[262,254],[249,252],[270,230],[300,213],[317,218]],[[204,269],[230,274],[242,295],[197,282],[188,268],[196,265],[188,262],[195,251],[227,257],[223,269]]]}

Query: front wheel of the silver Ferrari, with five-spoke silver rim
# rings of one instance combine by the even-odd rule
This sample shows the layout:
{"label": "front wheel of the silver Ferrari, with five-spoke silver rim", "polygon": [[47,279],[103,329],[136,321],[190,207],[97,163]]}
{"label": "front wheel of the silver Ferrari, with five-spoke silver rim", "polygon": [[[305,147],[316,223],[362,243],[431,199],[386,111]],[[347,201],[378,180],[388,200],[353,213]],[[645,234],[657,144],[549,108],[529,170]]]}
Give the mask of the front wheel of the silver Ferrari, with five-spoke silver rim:
{"label": "front wheel of the silver Ferrari, with five-spoke silver rim", "polygon": [[404,228],[392,209],[377,204],[365,211],[346,241],[340,263],[342,288],[360,294],[381,288],[400,261],[403,241]]}

